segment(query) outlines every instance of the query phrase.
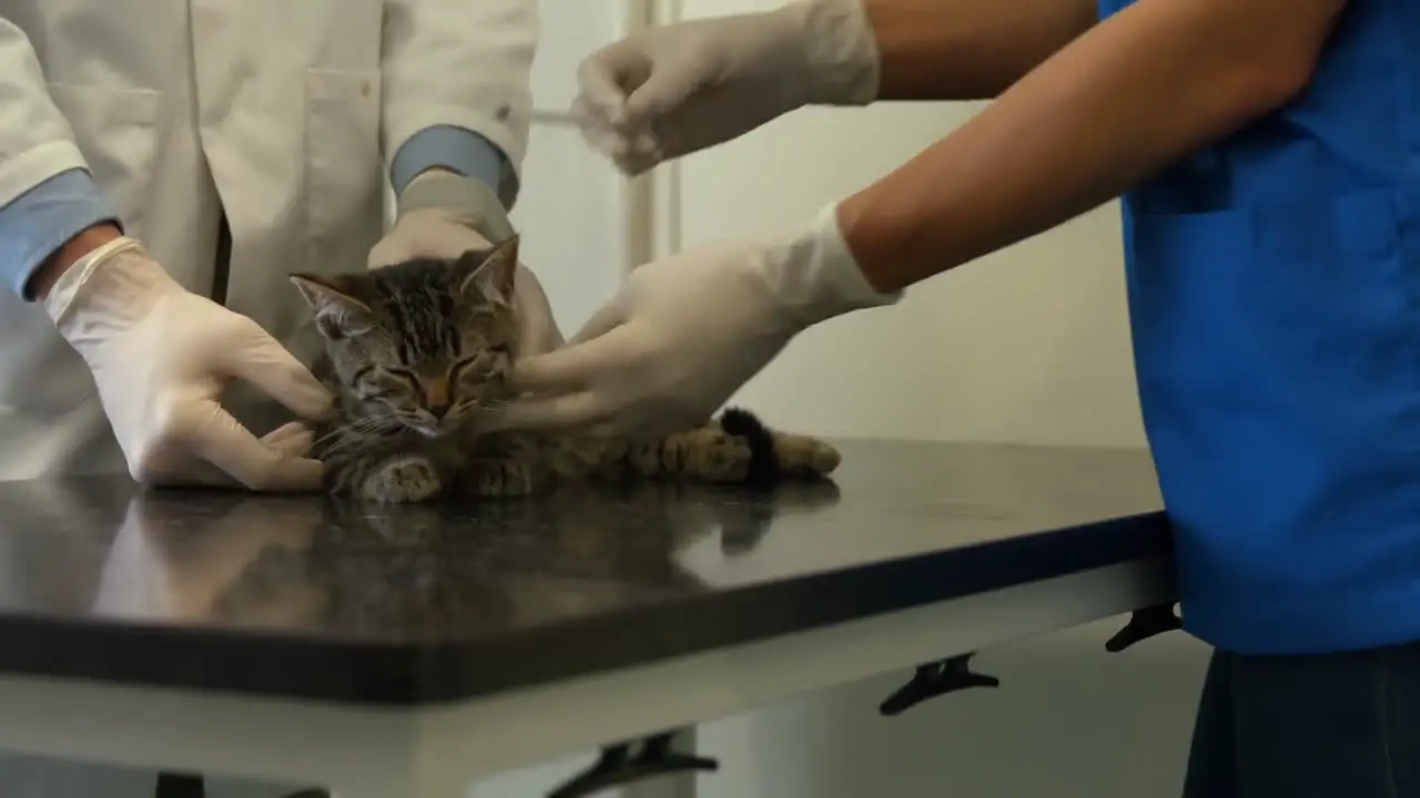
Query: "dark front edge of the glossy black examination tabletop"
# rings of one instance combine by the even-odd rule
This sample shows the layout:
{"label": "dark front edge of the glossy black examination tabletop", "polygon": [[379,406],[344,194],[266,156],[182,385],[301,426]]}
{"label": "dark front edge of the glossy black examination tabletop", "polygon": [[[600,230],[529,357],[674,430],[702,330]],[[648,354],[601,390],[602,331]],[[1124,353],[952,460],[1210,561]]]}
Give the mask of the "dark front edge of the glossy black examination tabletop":
{"label": "dark front edge of the glossy black examination tabletop", "polygon": [[[1172,551],[1159,510],[439,643],[311,640],[280,632],[4,615],[0,673],[420,707],[706,653]],[[95,652],[104,652],[99,667],[92,665]],[[203,660],[203,667],[193,660]]]}

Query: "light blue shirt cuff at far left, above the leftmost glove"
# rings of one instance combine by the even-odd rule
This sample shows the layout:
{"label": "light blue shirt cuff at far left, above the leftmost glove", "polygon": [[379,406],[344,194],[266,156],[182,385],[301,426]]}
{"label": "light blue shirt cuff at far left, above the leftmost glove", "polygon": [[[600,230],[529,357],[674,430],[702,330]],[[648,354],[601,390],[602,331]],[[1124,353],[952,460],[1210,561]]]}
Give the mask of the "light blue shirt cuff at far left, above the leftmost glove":
{"label": "light blue shirt cuff at far left, above the leftmost glove", "polygon": [[0,281],[33,301],[30,275],[70,239],[105,222],[124,226],[88,172],[70,169],[44,180],[0,207]]}

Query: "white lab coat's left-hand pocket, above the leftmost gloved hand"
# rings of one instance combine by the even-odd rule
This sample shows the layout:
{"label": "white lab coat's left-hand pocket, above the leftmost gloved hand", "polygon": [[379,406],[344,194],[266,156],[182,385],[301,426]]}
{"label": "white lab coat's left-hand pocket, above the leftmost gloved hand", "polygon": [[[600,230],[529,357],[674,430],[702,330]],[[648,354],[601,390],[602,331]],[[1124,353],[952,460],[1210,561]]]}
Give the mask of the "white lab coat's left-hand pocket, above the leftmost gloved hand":
{"label": "white lab coat's left-hand pocket, above the leftmost gloved hand", "polygon": [[162,95],[145,88],[48,84],[104,196],[141,236],[153,186]]}

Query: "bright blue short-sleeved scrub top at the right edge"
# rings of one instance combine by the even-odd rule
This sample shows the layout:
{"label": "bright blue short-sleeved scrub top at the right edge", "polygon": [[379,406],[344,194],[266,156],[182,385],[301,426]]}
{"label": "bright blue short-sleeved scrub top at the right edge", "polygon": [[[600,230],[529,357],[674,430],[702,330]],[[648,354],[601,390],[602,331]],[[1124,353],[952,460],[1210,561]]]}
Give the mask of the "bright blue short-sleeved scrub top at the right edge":
{"label": "bright blue short-sleeved scrub top at the right edge", "polygon": [[1123,222],[1184,628],[1240,653],[1420,639],[1420,0],[1350,0],[1302,95]]}

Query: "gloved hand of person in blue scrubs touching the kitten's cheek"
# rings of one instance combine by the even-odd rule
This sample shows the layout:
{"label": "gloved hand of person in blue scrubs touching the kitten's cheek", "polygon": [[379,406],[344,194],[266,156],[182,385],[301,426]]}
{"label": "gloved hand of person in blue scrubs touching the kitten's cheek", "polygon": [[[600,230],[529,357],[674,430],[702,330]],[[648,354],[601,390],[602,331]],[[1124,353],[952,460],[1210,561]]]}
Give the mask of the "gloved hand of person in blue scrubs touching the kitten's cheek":
{"label": "gloved hand of person in blue scrubs touching the kitten's cheek", "polygon": [[701,423],[804,328],[890,304],[825,209],[785,239],[646,264],[564,349],[514,364],[496,429],[663,434]]}

